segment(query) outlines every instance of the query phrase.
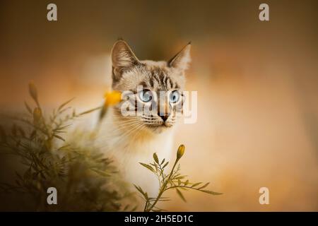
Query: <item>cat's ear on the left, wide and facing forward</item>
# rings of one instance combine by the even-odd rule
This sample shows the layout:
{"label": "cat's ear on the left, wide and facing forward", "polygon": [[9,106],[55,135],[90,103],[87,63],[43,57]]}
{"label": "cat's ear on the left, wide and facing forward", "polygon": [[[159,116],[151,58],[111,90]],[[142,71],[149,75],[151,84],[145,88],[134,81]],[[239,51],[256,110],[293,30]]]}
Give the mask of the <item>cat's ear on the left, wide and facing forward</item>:
{"label": "cat's ear on the left, wide and facing forward", "polygon": [[112,47],[112,80],[119,81],[124,71],[139,64],[129,45],[124,40],[118,40]]}

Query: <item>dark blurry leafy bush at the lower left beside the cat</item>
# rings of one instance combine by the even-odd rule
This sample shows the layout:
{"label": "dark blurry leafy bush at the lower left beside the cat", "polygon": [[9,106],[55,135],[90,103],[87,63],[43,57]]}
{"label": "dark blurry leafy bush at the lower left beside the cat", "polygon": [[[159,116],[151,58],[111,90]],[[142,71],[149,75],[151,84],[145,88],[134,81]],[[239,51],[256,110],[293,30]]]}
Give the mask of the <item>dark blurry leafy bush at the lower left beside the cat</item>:
{"label": "dark blurry leafy bush at the lower left beside the cat", "polygon": [[[0,153],[20,159],[13,182],[0,183],[2,194],[19,197],[15,210],[134,210],[122,205],[133,196],[112,160],[93,145],[94,134],[74,131],[65,138],[74,119],[100,107],[77,114],[68,100],[45,117],[32,83],[29,92],[35,107],[25,102],[28,115],[10,117],[10,132],[0,126]],[[47,204],[51,186],[57,188],[58,205]]]}

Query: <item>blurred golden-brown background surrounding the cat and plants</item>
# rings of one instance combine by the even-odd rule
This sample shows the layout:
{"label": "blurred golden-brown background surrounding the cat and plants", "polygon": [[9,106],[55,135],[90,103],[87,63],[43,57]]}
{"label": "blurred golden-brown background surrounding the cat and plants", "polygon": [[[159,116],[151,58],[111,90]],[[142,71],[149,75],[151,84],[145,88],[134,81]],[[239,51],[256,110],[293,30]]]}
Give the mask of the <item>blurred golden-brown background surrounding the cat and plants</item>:
{"label": "blurred golden-brown background surrounding the cat and plants", "polygon": [[[139,59],[170,59],[192,41],[187,90],[196,124],[181,124],[182,172],[222,196],[172,191],[176,211],[318,210],[318,2],[0,1],[0,107],[23,109],[33,81],[47,109],[76,97],[96,107],[110,88],[110,50],[124,38]],[[2,174],[6,172],[1,172]],[[269,205],[259,189],[269,188]]]}

